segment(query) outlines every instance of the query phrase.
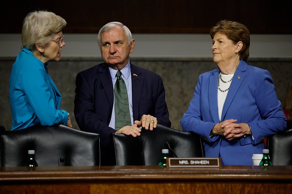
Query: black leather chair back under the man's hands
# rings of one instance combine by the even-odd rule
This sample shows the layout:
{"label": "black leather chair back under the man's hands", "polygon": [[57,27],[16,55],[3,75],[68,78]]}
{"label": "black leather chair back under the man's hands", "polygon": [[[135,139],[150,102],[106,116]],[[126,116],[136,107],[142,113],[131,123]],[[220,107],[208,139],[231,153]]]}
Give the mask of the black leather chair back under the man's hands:
{"label": "black leather chair back under the man's hands", "polygon": [[204,156],[200,136],[159,124],[153,131],[142,128],[141,136],[136,138],[113,133],[110,139],[113,161],[117,166],[158,165],[163,148],[169,149],[170,157]]}

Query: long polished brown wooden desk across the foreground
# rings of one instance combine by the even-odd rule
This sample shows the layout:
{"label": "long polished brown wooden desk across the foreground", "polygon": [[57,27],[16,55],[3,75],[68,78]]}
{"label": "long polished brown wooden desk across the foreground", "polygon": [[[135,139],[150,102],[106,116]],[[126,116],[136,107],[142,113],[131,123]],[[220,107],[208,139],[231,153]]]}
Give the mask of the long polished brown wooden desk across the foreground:
{"label": "long polished brown wooden desk across the foreground", "polygon": [[0,193],[290,193],[292,166],[0,168]]}

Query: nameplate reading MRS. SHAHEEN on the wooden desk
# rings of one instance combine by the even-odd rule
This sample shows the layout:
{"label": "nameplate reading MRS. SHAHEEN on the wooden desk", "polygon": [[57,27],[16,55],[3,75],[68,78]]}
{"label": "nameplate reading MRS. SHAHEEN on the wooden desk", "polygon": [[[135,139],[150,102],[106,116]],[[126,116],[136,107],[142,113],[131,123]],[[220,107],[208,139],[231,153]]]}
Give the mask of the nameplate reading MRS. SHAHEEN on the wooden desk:
{"label": "nameplate reading MRS. SHAHEEN on the wooden desk", "polygon": [[216,157],[196,157],[196,158],[167,158],[167,167],[203,167],[203,168],[219,168],[221,166],[221,158]]}

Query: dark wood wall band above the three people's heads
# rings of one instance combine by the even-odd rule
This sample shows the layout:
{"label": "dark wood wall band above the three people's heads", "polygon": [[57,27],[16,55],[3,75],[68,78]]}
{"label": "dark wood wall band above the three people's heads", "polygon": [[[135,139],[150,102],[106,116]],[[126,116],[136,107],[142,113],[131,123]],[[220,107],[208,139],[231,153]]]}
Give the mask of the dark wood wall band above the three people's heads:
{"label": "dark wood wall band above the three people's heads", "polygon": [[48,10],[67,21],[64,33],[97,33],[112,21],[132,33],[208,33],[222,19],[245,24],[253,34],[292,34],[290,0],[5,0],[0,33],[21,33],[32,10]]}

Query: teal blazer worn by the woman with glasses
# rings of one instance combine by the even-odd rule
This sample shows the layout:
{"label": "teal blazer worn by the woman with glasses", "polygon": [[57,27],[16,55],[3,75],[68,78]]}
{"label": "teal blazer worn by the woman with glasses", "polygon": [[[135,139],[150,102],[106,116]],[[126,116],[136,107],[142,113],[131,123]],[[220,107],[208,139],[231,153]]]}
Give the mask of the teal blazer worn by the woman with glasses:
{"label": "teal blazer worn by the woman with glasses", "polygon": [[10,74],[11,130],[34,124],[67,124],[68,113],[59,110],[62,96],[47,72],[47,65],[34,57],[31,50],[19,52]]}

